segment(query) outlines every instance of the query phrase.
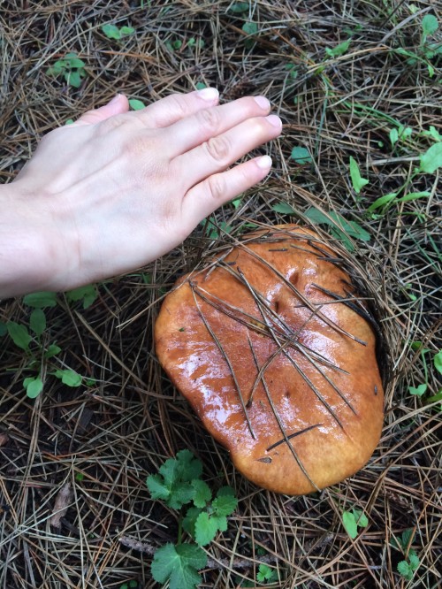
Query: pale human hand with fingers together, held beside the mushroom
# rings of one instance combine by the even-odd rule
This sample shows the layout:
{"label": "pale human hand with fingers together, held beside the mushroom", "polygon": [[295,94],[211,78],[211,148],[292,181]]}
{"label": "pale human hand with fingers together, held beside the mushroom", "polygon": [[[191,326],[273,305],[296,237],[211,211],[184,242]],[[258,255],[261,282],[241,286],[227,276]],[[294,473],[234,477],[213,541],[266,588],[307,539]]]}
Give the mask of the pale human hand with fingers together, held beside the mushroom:
{"label": "pale human hand with fingers together, held beside the mushroom", "polygon": [[[280,134],[263,97],[219,105],[217,91],[205,88],[128,108],[118,95],[51,131],[7,185],[13,198],[2,202],[0,191],[0,233],[9,226],[12,241],[11,228],[19,235],[9,256],[27,257],[15,280],[13,268],[6,272],[0,296],[66,290],[141,267],[270,170],[267,156],[229,168]],[[0,256],[0,267],[7,263]]]}

